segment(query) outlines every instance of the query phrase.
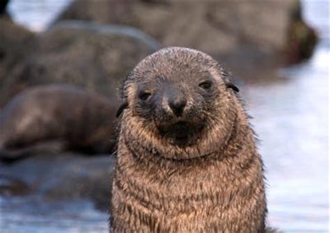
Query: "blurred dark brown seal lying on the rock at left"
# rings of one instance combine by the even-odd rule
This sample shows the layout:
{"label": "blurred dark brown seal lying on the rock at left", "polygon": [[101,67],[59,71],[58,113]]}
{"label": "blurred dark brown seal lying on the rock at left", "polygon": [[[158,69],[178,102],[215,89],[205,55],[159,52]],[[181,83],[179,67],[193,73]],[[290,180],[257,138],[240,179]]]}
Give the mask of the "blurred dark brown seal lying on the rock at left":
{"label": "blurred dark brown seal lying on the rock at left", "polygon": [[118,105],[67,84],[27,88],[0,112],[0,160],[47,148],[109,153],[116,143],[113,120]]}

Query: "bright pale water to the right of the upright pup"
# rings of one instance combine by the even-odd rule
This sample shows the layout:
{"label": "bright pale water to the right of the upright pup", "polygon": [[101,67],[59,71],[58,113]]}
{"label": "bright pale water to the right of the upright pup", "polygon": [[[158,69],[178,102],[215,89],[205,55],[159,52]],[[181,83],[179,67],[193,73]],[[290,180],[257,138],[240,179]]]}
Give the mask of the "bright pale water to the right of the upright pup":
{"label": "bright pale water to the right of the upright pup", "polygon": [[267,167],[269,222],[285,231],[328,232],[329,2],[304,2],[320,33],[313,57],[276,83],[244,87]]}

